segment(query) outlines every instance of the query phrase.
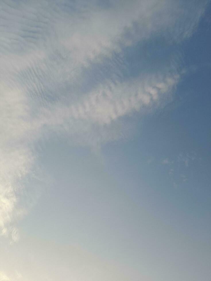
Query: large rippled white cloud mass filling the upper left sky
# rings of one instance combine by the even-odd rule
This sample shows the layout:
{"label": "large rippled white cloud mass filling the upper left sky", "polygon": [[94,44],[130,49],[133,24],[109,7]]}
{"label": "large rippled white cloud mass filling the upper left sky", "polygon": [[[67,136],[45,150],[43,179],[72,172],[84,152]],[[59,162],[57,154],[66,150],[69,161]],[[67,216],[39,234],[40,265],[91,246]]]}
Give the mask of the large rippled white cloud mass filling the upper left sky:
{"label": "large rippled white cloud mass filling the upper left sky", "polygon": [[[172,99],[188,71],[179,46],[206,4],[0,2],[1,236],[19,240],[26,181],[38,176],[38,141],[63,135],[73,145],[99,148],[127,138],[126,117]],[[2,273],[0,280],[9,279]]]}

